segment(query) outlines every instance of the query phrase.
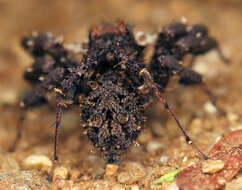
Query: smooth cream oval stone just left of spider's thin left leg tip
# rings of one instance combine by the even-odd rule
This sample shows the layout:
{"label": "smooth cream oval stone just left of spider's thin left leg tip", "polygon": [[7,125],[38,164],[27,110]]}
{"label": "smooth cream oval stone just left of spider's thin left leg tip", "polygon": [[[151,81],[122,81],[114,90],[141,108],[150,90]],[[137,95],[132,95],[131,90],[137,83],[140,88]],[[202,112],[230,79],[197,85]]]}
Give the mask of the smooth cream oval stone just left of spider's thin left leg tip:
{"label": "smooth cream oval stone just left of spider's thin left leg tip", "polygon": [[42,171],[48,171],[52,167],[51,160],[45,155],[33,154],[25,158],[23,165],[26,168],[35,168]]}

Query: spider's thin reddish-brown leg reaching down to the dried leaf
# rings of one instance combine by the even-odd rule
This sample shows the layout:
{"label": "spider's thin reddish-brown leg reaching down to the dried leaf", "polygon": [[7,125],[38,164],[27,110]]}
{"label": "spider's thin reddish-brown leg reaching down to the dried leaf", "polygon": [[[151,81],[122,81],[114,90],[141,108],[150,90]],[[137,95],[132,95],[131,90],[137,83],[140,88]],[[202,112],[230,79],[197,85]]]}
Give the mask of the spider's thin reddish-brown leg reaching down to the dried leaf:
{"label": "spider's thin reddish-brown leg reaching down to the dried leaf", "polygon": [[149,71],[144,68],[140,71],[140,75],[144,77],[145,82],[147,83],[147,85],[154,90],[155,95],[157,96],[157,98],[160,100],[160,102],[164,105],[165,109],[168,111],[168,113],[171,115],[171,117],[175,120],[178,128],[180,129],[180,131],[182,132],[182,134],[184,135],[187,144],[191,145],[192,148],[199,154],[199,156],[204,159],[207,160],[209,159],[191,140],[191,138],[187,135],[187,133],[185,132],[184,128],[182,127],[182,125],[180,124],[180,122],[178,121],[178,119],[175,116],[175,113],[170,109],[167,101],[165,100],[165,98],[161,95],[158,87],[154,84],[153,79],[149,73]]}

